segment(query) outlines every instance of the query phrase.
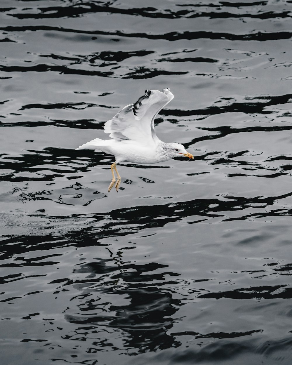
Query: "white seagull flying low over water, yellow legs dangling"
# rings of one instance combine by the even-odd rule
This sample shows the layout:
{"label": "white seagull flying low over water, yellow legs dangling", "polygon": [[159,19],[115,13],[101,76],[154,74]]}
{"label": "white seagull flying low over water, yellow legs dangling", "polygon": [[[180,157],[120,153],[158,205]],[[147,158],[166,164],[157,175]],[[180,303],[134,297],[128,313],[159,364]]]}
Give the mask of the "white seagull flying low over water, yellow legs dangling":
{"label": "white seagull flying low over water, yellow legs dangling", "polygon": [[76,148],[95,149],[115,156],[115,162],[111,165],[112,181],[108,192],[114,185],[116,192],[119,190],[121,177],[116,168],[119,162],[156,164],[181,155],[194,158],[183,145],[162,142],[154,131],[155,116],[173,97],[169,88],[163,89],[162,92],[145,90],[145,95],[136,103],[126,105],[114,118],[105,122],[104,132],[110,134],[111,139],[95,138]]}

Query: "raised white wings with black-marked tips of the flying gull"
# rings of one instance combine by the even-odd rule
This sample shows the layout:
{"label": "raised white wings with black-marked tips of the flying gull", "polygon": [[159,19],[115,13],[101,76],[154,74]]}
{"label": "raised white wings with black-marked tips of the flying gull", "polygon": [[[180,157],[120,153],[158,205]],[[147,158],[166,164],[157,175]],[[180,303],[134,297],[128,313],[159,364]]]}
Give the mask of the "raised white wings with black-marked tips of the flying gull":
{"label": "raised white wings with black-marked tips of the flying gull", "polygon": [[154,119],[158,112],[173,99],[169,89],[145,90],[136,103],[129,104],[104,124],[104,132],[110,137],[121,140],[130,139],[147,143],[157,139]]}

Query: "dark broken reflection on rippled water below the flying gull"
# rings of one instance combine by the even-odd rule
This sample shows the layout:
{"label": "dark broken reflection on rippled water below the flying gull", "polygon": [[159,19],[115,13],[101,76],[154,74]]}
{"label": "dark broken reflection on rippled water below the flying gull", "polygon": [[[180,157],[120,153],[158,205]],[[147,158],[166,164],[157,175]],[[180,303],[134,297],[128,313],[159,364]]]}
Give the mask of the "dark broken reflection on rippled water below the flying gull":
{"label": "dark broken reflection on rippled water below the flying gull", "polygon": [[[86,275],[87,279],[74,283],[82,294],[72,298],[73,304],[78,300],[77,308],[69,310],[72,314],[67,311],[65,319],[78,327],[66,338],[74,340],[78,333],[84,339],[93,340],[92,352],[96,352],[100,347],[96,338],[114,328],[118,333],[123,332],[120,348],[123,352],[132,349],[131,354],[138,354],[180,346],[174,336],[168,334],[180,300],[174,299],[171,291],[160,288],[162,284],[176,284],[175,280],[166,278],[180,274],[161,272],[168,265],[156,262],[126,264],[119,257],[94,260],[74,269],[74,273]],[[66,287],[66,283],[63,286]],[[102,346],[112,349],[114,344]]]}

